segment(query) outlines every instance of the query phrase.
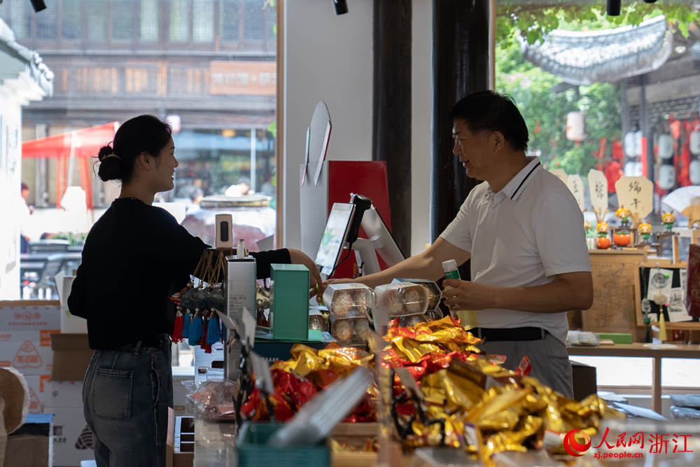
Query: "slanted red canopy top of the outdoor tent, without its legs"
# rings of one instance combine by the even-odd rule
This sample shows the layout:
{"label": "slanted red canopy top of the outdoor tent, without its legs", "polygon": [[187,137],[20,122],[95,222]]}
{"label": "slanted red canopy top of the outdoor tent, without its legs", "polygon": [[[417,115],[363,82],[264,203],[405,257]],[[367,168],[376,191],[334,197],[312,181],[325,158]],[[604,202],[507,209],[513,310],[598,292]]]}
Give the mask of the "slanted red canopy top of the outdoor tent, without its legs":
{"label": "slanted red canopy top of the outdoor tent, without its legs", "polygon": [[32,139],[22,143],[22,158],[68,158],[71,155],[75,158],[96,157],[99,148],[114,139],[118,127],[119,123],[112,122]]}

